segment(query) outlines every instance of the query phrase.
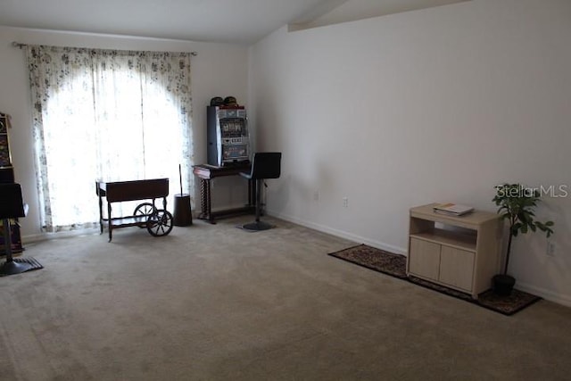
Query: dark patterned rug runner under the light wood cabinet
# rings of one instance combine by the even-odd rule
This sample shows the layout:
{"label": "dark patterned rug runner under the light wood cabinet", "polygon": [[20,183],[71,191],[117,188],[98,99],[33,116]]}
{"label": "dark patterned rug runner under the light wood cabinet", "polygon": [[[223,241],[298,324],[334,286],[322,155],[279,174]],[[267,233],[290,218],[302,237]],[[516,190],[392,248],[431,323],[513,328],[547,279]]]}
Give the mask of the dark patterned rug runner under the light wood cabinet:
{"label": "dark patterned rug runner under the light wood cabinet", "polygon": [[474,300],[469,294],[436,285],[418,277],[407,277],[407,258],[404,255],[388,253],[366,244],[349,247],[339,252],[329,253],[328,255],[366,267],[367,269],[374,269],[393,277],[408,280],[415,285],[430,288],[431,290],[454,296],[466,302],[476,303],[481,307],[500,312],[504,315],[513,315],[517,311],[521,311],[525,307],[542,299],[539,296],[514,289],[509,296],[499,296],[494,294],[492,290],[488,290],[479,294],[478,299]]}

